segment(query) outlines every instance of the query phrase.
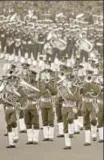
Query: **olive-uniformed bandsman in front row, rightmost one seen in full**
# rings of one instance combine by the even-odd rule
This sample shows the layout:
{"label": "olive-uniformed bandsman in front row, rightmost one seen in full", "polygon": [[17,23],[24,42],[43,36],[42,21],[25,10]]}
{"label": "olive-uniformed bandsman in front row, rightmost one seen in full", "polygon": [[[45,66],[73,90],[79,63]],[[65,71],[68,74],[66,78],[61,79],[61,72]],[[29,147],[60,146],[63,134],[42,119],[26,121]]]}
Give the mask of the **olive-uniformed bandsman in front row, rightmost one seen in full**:
{"label": "olive-uniformed bandsman in front row, rightmost one seen in full", "polygon": [[[93,72],[92,72],[93,73]],[[91,145],[91,125],[93,128],[93,132],[96,133],[96,111],[94,108],[94,96],[99,94],[99,86],[96,85],[95,82],[92,81],[91,75],[86,79],[86,83],[82,88],[82,110],[83,110],[83,118],[84,118],[84,128],[85,128],[85,146]],[[93,135],[92,135],[93,137]],[[94,139],[96,138],[96,134],[94,134]]]}

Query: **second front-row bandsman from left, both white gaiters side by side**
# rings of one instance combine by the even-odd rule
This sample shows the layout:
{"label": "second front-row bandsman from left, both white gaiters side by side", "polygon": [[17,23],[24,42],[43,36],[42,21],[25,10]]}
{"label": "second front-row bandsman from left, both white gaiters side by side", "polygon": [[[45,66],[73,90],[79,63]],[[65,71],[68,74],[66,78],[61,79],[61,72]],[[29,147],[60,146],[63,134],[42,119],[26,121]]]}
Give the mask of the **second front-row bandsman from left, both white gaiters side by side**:
{"label": "second front-row bandsman from left, both white gaiters side by side", "polygon": [[[32,71],[30,75],[30,84],[37,86],[36,72]],[[27,104],[24,109],[24,119],[27,128],[28,142],[27,144],[38,144],[39,141],[39,114],[38,114],[38,99],[39,94],[36,91],[27,91]]]}

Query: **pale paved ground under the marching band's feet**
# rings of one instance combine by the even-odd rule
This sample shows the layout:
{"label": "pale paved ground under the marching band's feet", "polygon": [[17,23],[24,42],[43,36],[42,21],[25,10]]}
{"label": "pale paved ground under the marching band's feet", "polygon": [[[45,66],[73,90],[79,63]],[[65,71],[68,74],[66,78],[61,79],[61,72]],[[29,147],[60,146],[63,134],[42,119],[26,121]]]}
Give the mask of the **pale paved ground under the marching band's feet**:
{"label": "pale paved ground under the marching band's feet", "polygon": [[[2,71],[0,61],[0,74]],[[72,150],[63,150],[64,139],[55,138],[54,142],[43,142],[42,131],[40,143],[36,146],[27,146],[26,134],[20,134],[16,149],[6,149],[7,137],[4,137],[5,121],[3,109],[0,109],[0,160],[103,160],[103,145],[92,142],[89,147],[84,147],[84,132],[72,139]]]}

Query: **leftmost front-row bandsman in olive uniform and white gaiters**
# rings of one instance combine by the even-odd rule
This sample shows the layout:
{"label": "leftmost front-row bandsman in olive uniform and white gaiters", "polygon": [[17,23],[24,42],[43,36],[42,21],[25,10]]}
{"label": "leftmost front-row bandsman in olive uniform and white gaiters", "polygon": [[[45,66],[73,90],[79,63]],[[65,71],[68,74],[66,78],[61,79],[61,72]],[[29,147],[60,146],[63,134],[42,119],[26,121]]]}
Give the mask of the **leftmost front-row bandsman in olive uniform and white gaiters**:
{"label": "leftmost front-row bandsman in olive uniform and white gaiters", "polygon": [[[8,81],[12,83],[12,77],[10,76]],[[14,79],[15,80],[15,79]],[[9,146],[7,148],[15,148],[15,143],[18,141],[18,129],[17,129],[17,117],[16,117],[16,110],[15,110],[15,105],[12,103],[13,97],[14,97],[14,92],[11,91],[11,84],[10,82],[6,84],[2,96],[3,96],[3,102],[4,102],[4,107],[5,107],[5,120],[7,123],[7,131],[8,131],[8,140],[9,140]],[[9,100],[11,102],[9,102]],[[4,100],[5,99],[5,100]]]}

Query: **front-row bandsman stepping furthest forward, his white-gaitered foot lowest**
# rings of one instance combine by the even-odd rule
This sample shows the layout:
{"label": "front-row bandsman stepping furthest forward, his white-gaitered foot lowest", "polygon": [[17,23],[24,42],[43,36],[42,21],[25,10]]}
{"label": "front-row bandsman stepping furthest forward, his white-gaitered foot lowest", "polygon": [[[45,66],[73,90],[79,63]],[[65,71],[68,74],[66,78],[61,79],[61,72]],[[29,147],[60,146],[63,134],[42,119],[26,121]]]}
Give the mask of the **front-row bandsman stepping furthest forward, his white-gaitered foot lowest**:
{"label": "front-row bandsman stepping furthest forward, his white-gaitered foot lowest", "polygon": [[64,122],[64,138],[65,138],[64,149],[71,149],[71,139],[69,138],[68,128],[69,131],[72,128],[72,124],[74,121],[74,113],[76,113],[76,102],[80,100],[79,88],[71,85],[72,83],[69,80],[71,80],[71,77],[65,78],[62,84],[63,88],[61,90],[58,89],[60,95],[63,98],[62,117]]}

